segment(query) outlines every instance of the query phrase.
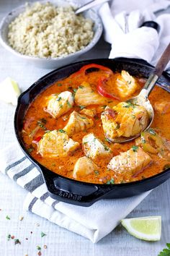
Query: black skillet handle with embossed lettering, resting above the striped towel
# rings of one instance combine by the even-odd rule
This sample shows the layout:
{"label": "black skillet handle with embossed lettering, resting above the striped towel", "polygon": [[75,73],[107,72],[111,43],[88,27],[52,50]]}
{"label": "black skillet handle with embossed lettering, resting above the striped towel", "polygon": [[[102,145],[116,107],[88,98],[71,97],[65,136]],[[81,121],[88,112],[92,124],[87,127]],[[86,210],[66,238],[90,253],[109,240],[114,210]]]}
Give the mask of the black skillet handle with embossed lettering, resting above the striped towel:
{"label": "black skillet handle with embossed lettering, resting above the striped towel", "polygon": [[38,166],[48,187],[50,197],[72,205],[90,206],[97,200],[105,198],[115,190],[115,185],[87,184],[72,179],[63,178],[58,174],[49,173],[45,167]]}

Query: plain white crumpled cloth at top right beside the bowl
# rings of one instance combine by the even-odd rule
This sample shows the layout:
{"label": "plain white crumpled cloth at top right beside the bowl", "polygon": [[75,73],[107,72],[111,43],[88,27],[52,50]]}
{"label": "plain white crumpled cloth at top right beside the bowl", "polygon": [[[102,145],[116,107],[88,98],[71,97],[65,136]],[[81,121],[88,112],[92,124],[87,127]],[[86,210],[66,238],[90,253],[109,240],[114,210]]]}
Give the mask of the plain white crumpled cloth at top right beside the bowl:
{"label": "plain white crumpled cloth at top right beside the bowl", "polygon": [[[155,65],[170,42],[170,14],[156,18],[153,12],[169,5],[170,1],[158,0],[143,0],[141,4],[134,0],[104,3],[99,14],[104,25],[104,38],[112,44],[109,58],[138,58]],[[159,33],[152,27],[140,27],[151,20],[160,25]]]}

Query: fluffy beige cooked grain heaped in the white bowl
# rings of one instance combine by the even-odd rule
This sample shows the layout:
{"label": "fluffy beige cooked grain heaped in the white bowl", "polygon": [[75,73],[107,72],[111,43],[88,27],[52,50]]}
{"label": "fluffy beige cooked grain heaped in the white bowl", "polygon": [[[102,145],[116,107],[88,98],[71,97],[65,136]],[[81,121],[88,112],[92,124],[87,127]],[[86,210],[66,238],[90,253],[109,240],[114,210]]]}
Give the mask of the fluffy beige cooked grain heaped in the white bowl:
{"label": "fluffy beige cooked grain heaped in the white bowl", "polygon": [[73,7],[49,2],[32,6],[9,25],[9,45],[21,54],[56,58],[87,46],[93,38],[93,22],[74,14]]}

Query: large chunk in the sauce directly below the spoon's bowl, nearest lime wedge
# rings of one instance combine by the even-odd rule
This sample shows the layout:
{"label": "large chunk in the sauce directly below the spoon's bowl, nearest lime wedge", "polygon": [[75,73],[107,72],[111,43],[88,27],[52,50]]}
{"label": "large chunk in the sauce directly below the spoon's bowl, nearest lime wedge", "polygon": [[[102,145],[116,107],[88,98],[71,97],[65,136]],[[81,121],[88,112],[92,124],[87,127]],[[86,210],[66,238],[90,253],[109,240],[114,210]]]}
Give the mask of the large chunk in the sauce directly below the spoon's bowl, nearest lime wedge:
{"label": "large chunk in the sauce directly below the spoon's bowl, nearest lime wedge", "polygon": [[119,174],[138,174],[143,171],[148,163],[151,162],[151,157],[138,146],[133,146],[130,150],[120,153],[109,162],[107,168]]}

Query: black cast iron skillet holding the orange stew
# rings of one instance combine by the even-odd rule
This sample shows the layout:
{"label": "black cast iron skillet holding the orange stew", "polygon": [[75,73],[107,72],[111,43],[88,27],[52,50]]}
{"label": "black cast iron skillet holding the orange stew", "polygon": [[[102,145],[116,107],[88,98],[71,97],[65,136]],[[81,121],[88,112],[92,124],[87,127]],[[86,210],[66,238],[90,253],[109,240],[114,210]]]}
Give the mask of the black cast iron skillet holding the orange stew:
{"label": "black cast iron skillet holding the orange stew", "polygon": [[[148,179],[143,179],[138,182],[130,182],[125,184],[91,184],[86,182],[79,182],[73,179],[68,179],[64,176],[53,173],[40,163],[38,163],[24,148],[22,141],[22,124],[23,117],[27,111],[30,103],[36,98],[36,96],[52,85],[53,82],[62,80],[68,77],[73,72],[78,71],[82,66],[86,64],[100,64],[105,67],[109,67],[113,72],[121,72],[122,69],[130,72],[135,77],[148,77],[149,73],[153,70],[153,67],[146,61],[140,59],[91,59],[87,61],[80,61],[74,64],[70,64],[60,69],[55,69],[53,72],[46,74],[44,77],[37,80],[28,90],[19,96],[17,109],[14,116],[14,129],[17,136],[19,145],[21,146],[24,154],[27,158],[35,164],[37,169],[42,174],[45,183],[48,187],[50,197],[54,199],[68,202],[73,205],[89,206],[97,200],[109,199],[109,198],[121,198],[138,195],[142,192],[146,192],[159,184],[165,182],[170,177],[170,168],[162,171],[161,174],[157,174]],[[170,93],[170,76],[166,72],[162,74],[158,80],[164,90],[168,90]]]}

